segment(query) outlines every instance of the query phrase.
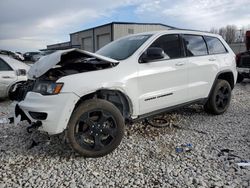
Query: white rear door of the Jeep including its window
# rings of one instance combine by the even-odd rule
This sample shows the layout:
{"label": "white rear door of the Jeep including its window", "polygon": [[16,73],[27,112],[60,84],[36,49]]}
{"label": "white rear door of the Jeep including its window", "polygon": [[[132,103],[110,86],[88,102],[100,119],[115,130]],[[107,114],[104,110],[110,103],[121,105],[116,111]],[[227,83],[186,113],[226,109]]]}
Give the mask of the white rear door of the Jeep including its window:
{"label": "white rear door of the Jeep including its window", "polygon": [[206,98],[218,72],[217,59],[214,55],[208,55],[203,36],[184,34],[182,38],[188,57],[189,101]]}

